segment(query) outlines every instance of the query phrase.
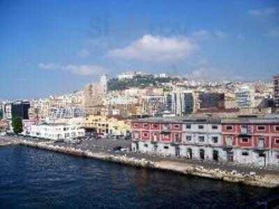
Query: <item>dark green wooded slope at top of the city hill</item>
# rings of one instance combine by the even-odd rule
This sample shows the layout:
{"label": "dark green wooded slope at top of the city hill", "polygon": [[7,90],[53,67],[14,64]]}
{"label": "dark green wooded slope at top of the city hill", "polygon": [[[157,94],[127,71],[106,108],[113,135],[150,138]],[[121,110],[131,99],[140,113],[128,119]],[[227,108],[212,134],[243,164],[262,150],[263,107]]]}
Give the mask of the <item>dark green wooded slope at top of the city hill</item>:
{"label": "dark green wooded slope at top of the city hill", "polygon": [[166,82],[178,82],[179,78],[155,78],[153,75],[135,75],[132,79],[112,78],[108,81],[109,91],[123,90],[131,87],[165,87]]}

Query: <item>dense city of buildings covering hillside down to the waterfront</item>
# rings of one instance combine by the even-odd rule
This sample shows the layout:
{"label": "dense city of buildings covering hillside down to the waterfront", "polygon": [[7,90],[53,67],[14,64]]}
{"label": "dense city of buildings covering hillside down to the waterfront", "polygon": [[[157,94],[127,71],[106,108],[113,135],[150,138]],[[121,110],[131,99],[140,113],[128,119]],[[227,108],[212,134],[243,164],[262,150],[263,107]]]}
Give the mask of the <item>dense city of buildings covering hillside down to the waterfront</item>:
{"label": "dense city of buildings covering hillside down to the waterfront", "polygon": [[[247,166],[278,166],[279,76],[197,82],[125,72],[61,96],[3,101],[1,133],[50,140],[131,140],[132,150]],[[128,85],[129,84],[129,85]]]}

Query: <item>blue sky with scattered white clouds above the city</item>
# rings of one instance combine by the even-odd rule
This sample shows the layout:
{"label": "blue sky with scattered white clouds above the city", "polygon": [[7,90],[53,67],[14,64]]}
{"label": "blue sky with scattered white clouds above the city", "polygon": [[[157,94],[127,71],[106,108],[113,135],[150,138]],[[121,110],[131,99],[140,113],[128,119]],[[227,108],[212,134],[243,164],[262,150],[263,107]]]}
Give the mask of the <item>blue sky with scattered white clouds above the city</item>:
{"label": "blue sky with scattered white clouds above the city", "polygon": [[128,70],[279,73],[279,1],[1,0],[0,25],[0,99],[72,92]]}

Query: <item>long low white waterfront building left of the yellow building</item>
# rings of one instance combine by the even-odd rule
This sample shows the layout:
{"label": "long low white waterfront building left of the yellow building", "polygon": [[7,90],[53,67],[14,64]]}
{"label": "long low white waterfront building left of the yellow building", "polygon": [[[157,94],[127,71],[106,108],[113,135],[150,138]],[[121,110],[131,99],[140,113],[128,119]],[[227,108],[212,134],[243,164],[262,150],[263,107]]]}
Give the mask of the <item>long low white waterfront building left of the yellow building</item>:
{"label": "long low white waterfront building left of the yellow building", "polygon": [[79,138],[85,136],[84,128],[77,124],[44,123],[31,125],[29,136],[50,140]]}

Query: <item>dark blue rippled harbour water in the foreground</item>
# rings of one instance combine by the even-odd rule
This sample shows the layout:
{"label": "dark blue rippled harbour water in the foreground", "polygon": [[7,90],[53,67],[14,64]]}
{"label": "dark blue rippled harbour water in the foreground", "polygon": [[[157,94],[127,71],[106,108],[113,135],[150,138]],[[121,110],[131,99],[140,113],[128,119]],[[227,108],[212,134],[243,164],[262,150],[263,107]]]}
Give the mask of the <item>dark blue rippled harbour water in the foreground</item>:
{"label": "dark blue rippled harbour water in the foreground", "polygon": [[275,189],[0,147],[0,208],[238,208]]}

